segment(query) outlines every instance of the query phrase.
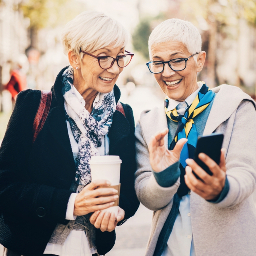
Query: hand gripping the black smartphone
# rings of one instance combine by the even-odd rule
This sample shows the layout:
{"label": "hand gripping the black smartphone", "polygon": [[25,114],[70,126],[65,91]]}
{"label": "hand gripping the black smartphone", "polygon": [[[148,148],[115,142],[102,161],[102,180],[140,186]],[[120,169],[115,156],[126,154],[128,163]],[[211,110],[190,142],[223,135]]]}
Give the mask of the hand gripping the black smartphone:
{"label": "hand gripping the black smartphone", "polygon": [[[206,200],[214,200],[224,188],[226,181],[225,149],[221,149],[220,165],[216,164],[209,156],[200,153],[198,158],[211,170],[213,175],[206,173],[193,159],[187,159],[185,182],[190,190]],[[200,177],[198,180],[192,170]]]}

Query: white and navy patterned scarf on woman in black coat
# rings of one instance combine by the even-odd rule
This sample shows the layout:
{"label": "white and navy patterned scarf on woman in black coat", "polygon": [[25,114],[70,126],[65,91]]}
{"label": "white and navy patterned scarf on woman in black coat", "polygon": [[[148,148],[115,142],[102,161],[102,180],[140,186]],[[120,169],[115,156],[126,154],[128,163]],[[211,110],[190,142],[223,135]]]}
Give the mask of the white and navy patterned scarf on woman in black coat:
{"label": "white and navy patterned scarf on woman in black coat", "polygon": [[62,75],[62,94],[66,110],[66,118],[76,142],[78,143],[78,161],[75,181],[86,186],[91,182],[89,160],[99,154],[97,147],[102,138],[109,132],[116,101],[113,90],[101,94],[99,101],[89,113],[75,94],[73,85],[73,68],[69,66]]}

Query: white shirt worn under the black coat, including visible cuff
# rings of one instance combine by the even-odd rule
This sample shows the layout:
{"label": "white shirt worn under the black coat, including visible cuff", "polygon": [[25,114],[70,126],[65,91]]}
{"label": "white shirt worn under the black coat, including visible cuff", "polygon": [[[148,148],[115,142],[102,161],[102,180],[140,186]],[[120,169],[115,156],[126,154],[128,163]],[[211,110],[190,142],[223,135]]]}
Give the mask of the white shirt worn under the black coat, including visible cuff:
{"label": "white shirt worn under the black coat, including visible cuff", "polygon": [[[75,87],[74,92],[80,103],[85,107],[85,100],[83,99],[83,96],[75,89]],[[99,99],[100,93],[97,94],[92,104],[93,107],[98,103]],[[78,143],[73,136],[69,122],[66,122],[74,160],[77,163]],[[105,152],[108,154],[109,137],[107,134],[102,138],[102,144],[100,147],[97,147],[97,149],[101,156],[105,155]],[[66,220],[76,219],[76,216],[73,215],[76,196],[77,193],[72,193],[70,195],[66,211]],[[44,251],[44,254],[56,254],[59,256],[92,256],[94,253],[96,253],[96,251],[90,250],[86,234],[83,230],[71,230],[63,245],[48,243]]]}

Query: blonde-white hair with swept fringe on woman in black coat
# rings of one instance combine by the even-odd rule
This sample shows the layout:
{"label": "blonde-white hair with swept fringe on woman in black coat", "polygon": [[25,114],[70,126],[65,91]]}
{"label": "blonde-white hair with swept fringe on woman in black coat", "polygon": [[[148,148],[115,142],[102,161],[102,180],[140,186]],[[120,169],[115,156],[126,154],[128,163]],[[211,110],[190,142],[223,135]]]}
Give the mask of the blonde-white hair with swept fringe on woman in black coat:
{"label": "blonde-white hair with swept fringe on woman in black coat", "polygon": [[66,24],[61,42],[64,53],[71,49],[81,58],[80,49],[92,53],[98,49],[113,46],[124,47],[129,33],[115,19],[98,11],[84,11]]}

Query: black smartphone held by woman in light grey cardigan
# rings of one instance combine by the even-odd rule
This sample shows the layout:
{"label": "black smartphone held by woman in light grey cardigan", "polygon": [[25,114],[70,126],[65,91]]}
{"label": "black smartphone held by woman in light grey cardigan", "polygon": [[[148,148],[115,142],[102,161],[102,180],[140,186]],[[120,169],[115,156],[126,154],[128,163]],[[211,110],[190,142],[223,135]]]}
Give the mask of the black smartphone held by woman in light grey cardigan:
{"label": "black smartphone held by woman in light grey cardigan", "polygon": [[[222,133],[212,133],[210,135],[200,136],[197,140],[194,160],[202,169],[204,169],[211,176],[212,172],[210,171],[208,166],[198,158],[198,154],[205,153],[212,160],[214,160],[216,164],[220,164],[220,150],[222,147],[223,138],[224,135]],[[195,173],[194,175],[197,179],[200,179]]]}

